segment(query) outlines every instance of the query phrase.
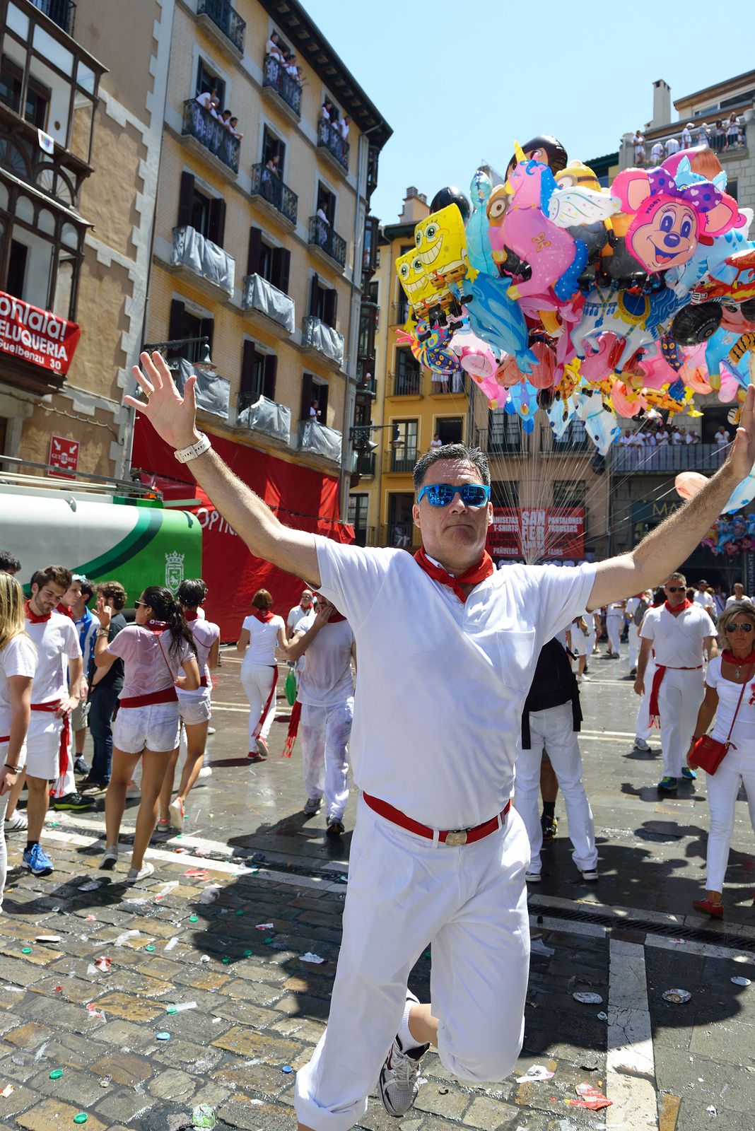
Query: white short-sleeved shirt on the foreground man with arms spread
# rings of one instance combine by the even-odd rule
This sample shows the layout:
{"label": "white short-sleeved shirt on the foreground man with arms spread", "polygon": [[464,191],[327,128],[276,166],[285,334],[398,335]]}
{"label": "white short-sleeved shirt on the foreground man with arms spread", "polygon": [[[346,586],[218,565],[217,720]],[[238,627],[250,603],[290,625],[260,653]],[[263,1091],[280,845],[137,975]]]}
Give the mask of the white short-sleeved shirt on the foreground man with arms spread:
{"label": "white short-sleeved shirt on the foreground man with arms spread", "polygon": [[315,543],[357,645],[355,782],[432,828],[488,820],[511,797],[540,648],[582,612],[595,567],[505,566],[462,603],[406,551]]}

